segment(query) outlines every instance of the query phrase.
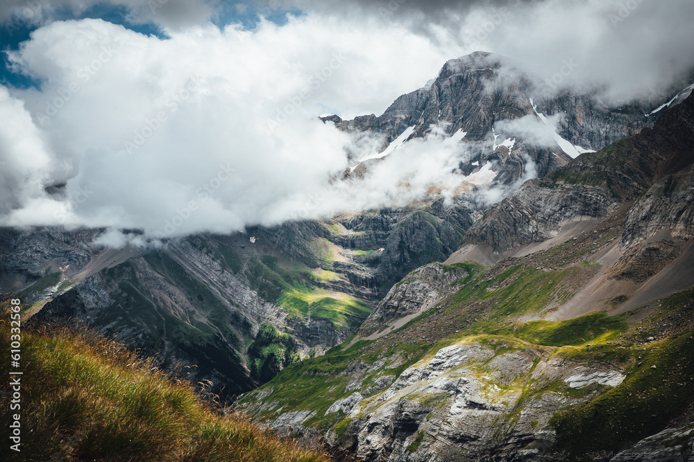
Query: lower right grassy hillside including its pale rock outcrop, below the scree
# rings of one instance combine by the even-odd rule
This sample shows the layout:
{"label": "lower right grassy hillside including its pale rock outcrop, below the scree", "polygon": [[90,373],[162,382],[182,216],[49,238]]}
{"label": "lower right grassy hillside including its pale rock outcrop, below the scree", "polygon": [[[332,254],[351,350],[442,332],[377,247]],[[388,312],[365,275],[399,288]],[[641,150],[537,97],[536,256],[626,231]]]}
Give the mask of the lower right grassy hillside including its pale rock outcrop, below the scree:
{"label": "lower right grassy hillside including its pale rock outcrop, below the scree", "polygon": [[613,237],[589,234],[491,267],[456,264],[468,276],[436,307],[378,339],[357,331],[287,367],[240,407],[296,432],[316,428],[366,460],[442,452],[516,460],[523,451],[578,460],[686,423],[694,290],[631,310],[621,309],[622,295],[609,314],[543,319],[602,270],[600,240]]}

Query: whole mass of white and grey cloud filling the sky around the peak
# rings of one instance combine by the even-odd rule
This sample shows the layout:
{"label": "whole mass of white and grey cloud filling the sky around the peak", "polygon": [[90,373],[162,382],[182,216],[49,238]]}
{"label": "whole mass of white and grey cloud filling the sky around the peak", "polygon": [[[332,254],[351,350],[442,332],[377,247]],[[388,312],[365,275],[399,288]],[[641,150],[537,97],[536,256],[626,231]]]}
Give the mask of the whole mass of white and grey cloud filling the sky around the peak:
{"label": "whole mass of white and grey cloud filling the sky around the peak", "polygon": [[[599,89],[607,103],[664,98],[694,63],[688,0],[273,2],[249,8],[303,14],[220,29],[209,22],[218,2],[112,2],[168,39],[51,21],[92,0],[4,2],[4,24],[35,7],[42,26],[8,59],[42,84],[0,87],[0,224],[182,236],[402,205],[432,188],[450,196],[468,154],[439,131],[355,184],[342,179],[346,151],[367,157],[382,140],[317,116],[380,114],[478,49],[512,57],[554,91]],[[498,127],[528,137],[536,125]]]}

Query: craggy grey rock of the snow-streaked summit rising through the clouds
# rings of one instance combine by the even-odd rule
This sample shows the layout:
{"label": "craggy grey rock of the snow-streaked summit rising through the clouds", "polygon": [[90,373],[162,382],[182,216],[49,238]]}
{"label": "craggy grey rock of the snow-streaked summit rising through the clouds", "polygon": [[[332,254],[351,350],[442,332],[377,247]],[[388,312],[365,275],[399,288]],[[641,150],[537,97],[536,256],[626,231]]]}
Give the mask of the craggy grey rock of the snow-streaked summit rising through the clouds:
{"label": "craggy grey rock of the snow-streaked summit rising through the clouds", "polygon": [[566,91],[545,96],[508,58],[475,52],[446,62],[432,85],[400,96],[381,116],[371,114],[352,121],[330,116],[323,121],[347,132],[380,134],[384,149],[408,127],[414,129],[411,139],[430,134],[433,125],[442,125],[448,135],[465,132],[463,143],[472,153],[469,163],[461,166],[466,175],[475,170],[473,163],[491,162],[496,184],[514,188],[519,180],[527,179],[528,171],[535,170],[542,177],[570,160],[559,145],[539,147],[525,143],[519,134],[508,134],[509,140],[515,140],[511,148],[497,145],[496,136],[502,137],[499,143],[507,136],[494,132],[498,123],[529,117],[541,125],[536,111],[545,116],[564,114],[557,127],[559,135],[586,150],[632,136],[651,126],[654,119],[645,116],[646,107],[608,107],[595,95]]}

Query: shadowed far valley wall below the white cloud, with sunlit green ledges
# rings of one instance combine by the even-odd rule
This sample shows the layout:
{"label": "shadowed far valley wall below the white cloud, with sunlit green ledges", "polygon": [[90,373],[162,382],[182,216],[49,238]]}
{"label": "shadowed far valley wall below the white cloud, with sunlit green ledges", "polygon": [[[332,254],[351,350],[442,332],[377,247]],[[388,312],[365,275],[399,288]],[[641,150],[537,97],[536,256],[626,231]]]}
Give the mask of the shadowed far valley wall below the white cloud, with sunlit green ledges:
{"label": "shadowed far valley wall below the white cloud, with sunlit green ledges", "polygon": [[[198,379],[239,393],[260,383],[264,364],[277,372],[345,341],[381,293],[445,259],[471,222],[464,204],[441,199],[160,249],[106,249],[91,243],[100,230],[6,229],[2,284],[22,292],[40,321],[84,321],[162,366],[196,364]],[[296,342],[275,339],[286,358],[249,353],[265,325]]]}

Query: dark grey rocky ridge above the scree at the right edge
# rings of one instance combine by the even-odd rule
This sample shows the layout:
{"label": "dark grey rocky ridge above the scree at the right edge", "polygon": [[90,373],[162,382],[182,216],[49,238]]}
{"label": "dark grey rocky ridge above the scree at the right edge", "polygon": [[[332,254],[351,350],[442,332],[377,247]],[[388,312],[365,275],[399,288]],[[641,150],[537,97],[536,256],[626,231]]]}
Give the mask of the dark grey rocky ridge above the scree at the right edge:
{"label": "dark grey rocky ridge above the scree at the right edge", "polygon": [[[543,179],[527,181],[475,222],[463,242],[505,251],[541,242],[569,220],[604,217],[650,188],[663,166],[688,166],[693,157],[682,154],[691,153],[692,143],[694,98],[690,97],[664,113],[653,130],[644,130],[601,152],[583,154]],[[680,204],[677,210],[682,211],[686,222],[691,220],[691,215],[684,213],[688,193],[683,189],[678,194],[673,200]],[[647,213],[648,202],[642,206]],[[679,228],[690,232],[684,222]]]}

